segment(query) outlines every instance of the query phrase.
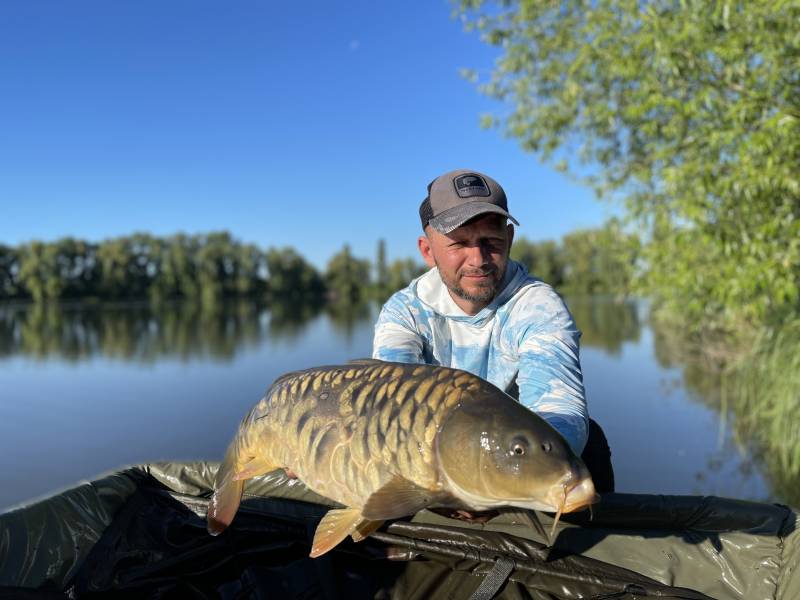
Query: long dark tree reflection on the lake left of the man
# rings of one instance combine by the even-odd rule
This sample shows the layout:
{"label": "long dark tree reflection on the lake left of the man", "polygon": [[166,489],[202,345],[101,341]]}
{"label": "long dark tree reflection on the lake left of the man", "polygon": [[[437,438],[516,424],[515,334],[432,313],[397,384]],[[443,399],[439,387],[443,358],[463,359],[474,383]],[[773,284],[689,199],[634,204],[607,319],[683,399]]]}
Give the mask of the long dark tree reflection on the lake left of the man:
{"label": "long dark tree reflection on the lake left of the man", "polygon": [[320,310],[319,303],[263,306],[249,301],[4,306],[0,356],[229,360],[240,347],[268,337],[299,337]]}

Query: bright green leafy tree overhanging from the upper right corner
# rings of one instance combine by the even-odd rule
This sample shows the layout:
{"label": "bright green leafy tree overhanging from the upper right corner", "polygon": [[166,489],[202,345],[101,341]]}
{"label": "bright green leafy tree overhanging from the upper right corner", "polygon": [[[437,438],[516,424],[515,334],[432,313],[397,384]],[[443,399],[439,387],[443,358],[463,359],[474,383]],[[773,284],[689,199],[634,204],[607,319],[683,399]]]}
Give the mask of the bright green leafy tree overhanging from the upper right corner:
{"label": "bright green leafy tree overhanging from the upper right corner", "polygon": [[703,327],[800,300],[800,4],[462,0],[522,146],[625,198],[642,290]]}

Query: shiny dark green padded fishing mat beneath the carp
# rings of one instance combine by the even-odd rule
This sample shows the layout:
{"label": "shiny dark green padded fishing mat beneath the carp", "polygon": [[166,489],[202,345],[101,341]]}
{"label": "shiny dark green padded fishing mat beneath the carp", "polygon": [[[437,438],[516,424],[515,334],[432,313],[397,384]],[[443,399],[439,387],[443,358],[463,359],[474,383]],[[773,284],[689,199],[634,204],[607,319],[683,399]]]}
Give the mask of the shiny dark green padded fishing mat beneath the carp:
{"label": "shiny dark green padded fishing mat beneath the carp", "polygon": [[216,469],[143,465],[0,515],[0,596],[800,598],[798,515],[784,506],[607,494],[549,549],[520,514],[479,525],[421,511],[312,559],[329,501],[275,472],[248,482],[212,537]]}

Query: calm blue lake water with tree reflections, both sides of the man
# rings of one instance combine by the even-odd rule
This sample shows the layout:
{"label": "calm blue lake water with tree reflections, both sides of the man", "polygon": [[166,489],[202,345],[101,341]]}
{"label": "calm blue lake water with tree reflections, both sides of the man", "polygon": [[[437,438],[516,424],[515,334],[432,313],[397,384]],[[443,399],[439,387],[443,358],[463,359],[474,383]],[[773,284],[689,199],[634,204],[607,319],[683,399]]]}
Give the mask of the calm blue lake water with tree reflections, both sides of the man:
{"label": "calm blue lake water with tree reflections, both sides of the man", "polygon": [[[617,491],[786,501],[668,366],[641,303],[569,301]],[[287,371],[371,354],[372,306],[0,306],[0,509],[126,465],[219,460]]]}

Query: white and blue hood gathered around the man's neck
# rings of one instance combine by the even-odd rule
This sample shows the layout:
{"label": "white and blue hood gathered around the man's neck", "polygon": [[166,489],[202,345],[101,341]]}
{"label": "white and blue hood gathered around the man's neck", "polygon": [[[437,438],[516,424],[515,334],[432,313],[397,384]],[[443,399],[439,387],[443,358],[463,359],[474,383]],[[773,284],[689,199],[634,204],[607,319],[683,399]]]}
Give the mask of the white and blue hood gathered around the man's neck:
{"label": "white and blue hood gathered around the man's neck", "polygon": [[500,291],[494,299],[476,315],[468,315],[462,308],[455,303],[450,291],[442,281],[437,267],[432,268],[423,276],[418,278],[412,287],[417,298],[430,308],[433,312],[454,319],[464,321],[473,325],[481,325],[487,319],[491,319],[498,307],[502,306],[519,290],[525,280],[528,279],[528,271],[520,263],[510,260],[506,264],[506,272],[500,282]]}

